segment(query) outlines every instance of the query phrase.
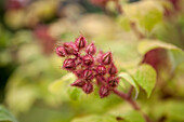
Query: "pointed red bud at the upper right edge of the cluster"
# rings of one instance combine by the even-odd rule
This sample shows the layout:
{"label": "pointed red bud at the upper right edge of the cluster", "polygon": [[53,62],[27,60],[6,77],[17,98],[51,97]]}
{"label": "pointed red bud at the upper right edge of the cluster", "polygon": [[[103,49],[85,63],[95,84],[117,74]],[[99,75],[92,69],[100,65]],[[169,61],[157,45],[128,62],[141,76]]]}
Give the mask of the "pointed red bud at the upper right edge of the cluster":
{"label": "pointed red bud at the upper right edge of the cluster", "polygon": [[102,55],[102,63],[104,65],[109,65],[113,62],[111,52],[107,52]]}

